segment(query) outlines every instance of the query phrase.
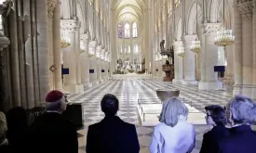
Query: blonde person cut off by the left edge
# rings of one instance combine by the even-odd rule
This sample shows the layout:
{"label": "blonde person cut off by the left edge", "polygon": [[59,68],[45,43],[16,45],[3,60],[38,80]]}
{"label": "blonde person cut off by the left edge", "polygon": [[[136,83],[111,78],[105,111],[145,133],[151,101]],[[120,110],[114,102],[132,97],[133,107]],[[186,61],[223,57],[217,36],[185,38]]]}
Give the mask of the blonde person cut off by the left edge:
{"label": "blonde person cut off by the left edge", "polygon": [[0,152],[9,152],[8,141],[6,138],[7,133],[7,119],[6,115],[0,111]]}

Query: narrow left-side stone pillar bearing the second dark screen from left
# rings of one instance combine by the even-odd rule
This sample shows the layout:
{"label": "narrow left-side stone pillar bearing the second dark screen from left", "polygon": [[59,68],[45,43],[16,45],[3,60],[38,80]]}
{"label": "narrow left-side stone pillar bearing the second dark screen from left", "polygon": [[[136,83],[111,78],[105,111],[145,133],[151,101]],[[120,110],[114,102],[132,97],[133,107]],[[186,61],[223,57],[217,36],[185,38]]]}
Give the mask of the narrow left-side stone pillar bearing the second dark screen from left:
{"label": "narrow left-side stone pillar bearing the second dark screen from left", "polygon": [[88,49],[89,53],[94,54],[92,57],[89,57],[89,81],[92,85],[99,84],[97,80],[97,57],[96,57],[96,45],[97,41],[89,42]]}

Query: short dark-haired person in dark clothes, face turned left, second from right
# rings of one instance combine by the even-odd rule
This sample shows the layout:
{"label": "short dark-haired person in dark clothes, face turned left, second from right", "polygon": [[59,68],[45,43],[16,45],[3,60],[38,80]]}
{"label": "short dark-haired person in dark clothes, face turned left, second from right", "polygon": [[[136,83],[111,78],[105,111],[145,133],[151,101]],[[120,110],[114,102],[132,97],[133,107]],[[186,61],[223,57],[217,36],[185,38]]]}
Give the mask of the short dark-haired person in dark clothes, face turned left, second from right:
{"label": "short dark-haired person in dark clothes, face turned left, second from right", "polygon": [[216,153],[217,142],[229,135],[229,130],[225,127],[227,123],[226,114],[224,108],[219,105],[210,105],[205,109],[207,111],[207,124],[213,126],[213,128],[204,134],[200,153]]}

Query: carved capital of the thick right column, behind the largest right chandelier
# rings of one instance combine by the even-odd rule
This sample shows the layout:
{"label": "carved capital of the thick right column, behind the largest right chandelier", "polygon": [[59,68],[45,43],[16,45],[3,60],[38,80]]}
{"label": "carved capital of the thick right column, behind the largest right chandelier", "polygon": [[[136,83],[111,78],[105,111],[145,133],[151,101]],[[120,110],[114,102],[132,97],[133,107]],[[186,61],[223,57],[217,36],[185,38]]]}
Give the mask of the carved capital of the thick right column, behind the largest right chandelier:
{"label": "carved capital of the thick right column, behind the largest right chandelier", "polygon": [[223,30],[222,23],[204,23],[202,26],[203,34],[217,34],[217,32]]}

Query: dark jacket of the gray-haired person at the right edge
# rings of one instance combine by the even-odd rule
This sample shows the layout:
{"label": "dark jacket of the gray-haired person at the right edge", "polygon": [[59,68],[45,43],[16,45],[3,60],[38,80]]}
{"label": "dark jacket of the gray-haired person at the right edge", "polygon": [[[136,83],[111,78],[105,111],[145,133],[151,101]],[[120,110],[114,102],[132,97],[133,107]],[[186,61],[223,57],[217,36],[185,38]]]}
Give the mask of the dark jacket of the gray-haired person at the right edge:
{"label": "dark jacket of the gray-haired person at the right edge", "polygon": [[240,125],[230,129],[230,136],[218,143],[219,153],[255,153],[256,133],[249,125]]}

